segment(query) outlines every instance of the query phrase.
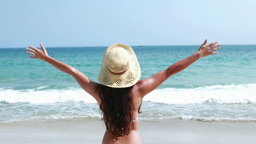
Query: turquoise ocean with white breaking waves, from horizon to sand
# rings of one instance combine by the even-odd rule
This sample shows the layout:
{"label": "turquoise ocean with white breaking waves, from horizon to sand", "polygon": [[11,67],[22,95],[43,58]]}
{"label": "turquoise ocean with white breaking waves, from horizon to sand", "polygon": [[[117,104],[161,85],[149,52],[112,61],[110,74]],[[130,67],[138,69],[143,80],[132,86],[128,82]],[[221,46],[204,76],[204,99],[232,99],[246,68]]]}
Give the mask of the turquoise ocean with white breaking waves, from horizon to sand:
{"label": "turquoise ocean with white breaking waves, from horizon to sand", "polygon": [[[132,46],[141,79],[200,46]],[[144,97],[139,121],[256,122],[256,45],[222,45]],[[24,48],[0,49],[0,123],[101,119],[96,100],[71,75]],[[46,47],[48,54],[97,82],[105,47]]]}

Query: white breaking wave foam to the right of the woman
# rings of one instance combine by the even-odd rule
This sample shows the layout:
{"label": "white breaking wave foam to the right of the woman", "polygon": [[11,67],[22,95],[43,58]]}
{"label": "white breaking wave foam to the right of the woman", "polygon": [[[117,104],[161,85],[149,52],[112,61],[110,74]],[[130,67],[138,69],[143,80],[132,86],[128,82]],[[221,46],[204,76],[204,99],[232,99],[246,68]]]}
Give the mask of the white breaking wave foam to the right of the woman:
{"label": "white breaking wave foam to the right of the woman", "polygon": [[219,104],[256,103],[256,84],[156,89],[146,95],[144,100],[164,104],[196,104],[205,101]]}

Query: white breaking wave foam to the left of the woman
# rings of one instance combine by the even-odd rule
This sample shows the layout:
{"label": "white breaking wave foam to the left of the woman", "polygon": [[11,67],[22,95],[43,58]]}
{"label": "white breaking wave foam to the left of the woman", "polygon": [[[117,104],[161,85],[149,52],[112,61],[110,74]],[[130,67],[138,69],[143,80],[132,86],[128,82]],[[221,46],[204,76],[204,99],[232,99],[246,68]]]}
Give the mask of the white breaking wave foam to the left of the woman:
{"label": "white breaking wave foam to the left of the woman", "polygon": [[66,89],[42,89],[44,86],[35,89],[13,90],[2,89],[0,91],[0,101],[8,103],[56,103],[65,101],[84,101],[85,103],[97,103],[88,93],[80,88]]}

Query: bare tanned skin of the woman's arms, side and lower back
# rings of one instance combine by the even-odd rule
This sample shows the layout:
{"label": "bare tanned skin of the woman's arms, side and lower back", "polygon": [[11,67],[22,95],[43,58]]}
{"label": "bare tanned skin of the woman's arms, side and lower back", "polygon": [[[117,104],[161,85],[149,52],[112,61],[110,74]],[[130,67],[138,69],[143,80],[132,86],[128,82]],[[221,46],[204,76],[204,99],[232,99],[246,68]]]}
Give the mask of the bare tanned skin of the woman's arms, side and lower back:
{"label": "bare tanned skin of the woman's arms, side and lower back", "polygon": [[[155,88],[161,85],[161,83],[164,82],[166,79],[168,79],[168,77],[176,73],[179,73],[179,71],[182,71],[185,68],[189,67],[189,65],[193,64],[198,59],[217,54],[218,52],[214,52],[214,51],[219,50],[220,49],[219,46],[220,44],[218,44],[218,41],[211,44],[207,44],[207,40],[205,40],[205,42],[201,45],[200,49],[197,52],[195,52],[193,55],[172,64],[167,69],[160,71],[159,73],[153,75],[152,77],[149,77],[148,79],[139,80],[138,83],[136,83],[136,85],[134,85],[132,89],[132,93],[134,97],[132,102],[132,112],[133,112],[132,119],[135,119],[137,117],[139,105],[141,104],[141,101],[145,95],[147,95],[149,92],[152,92]],[[98,96],[98,91],[97,91],[97,86],[99,85],[97,82],[91,81],[87,76],[85,76],[79,70],[71,67],[70,65],[57,61],[56,59],[50,57],[42,43],[40,43],[40,47],[42,48],[42,50],[39,50],[33,46],[28,46],[28,47],[30,47],[30,49],[26,48],[26,50],[28,50],[27,51],[28,54],[32,55],[30,56],[31,58],[37,58],[42,61],[45,61],[53,65],[55,68],[69,75],[72,75],[74,79],[79,83],[79,85],[86,92],[88,92],[92,97],[96,99],[98,105],[101,104],[101,99]],[[102,143],[103,144],[105,143],[115,143],[115,144],[142,143],[138,133],[138,120],[136,120],[133,123],[135,124],[135,127],[130,131],[129,135],[113,136],[111,133],[106,131],[106,133],[104,134]]]}

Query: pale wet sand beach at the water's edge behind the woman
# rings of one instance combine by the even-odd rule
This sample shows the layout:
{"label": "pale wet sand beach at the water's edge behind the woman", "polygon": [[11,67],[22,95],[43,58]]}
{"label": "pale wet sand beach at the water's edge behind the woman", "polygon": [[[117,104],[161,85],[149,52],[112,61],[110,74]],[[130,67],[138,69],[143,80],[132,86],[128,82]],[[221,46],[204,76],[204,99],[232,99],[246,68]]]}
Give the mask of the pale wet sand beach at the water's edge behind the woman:
{"label": "pale wet sand beach at the water's edge behind the woman", "polygon": [[[0,124],[1,143],[101,143],[102,121]],[[142,143],[255,143],[256,124],[240,122],[139,122]]]}

